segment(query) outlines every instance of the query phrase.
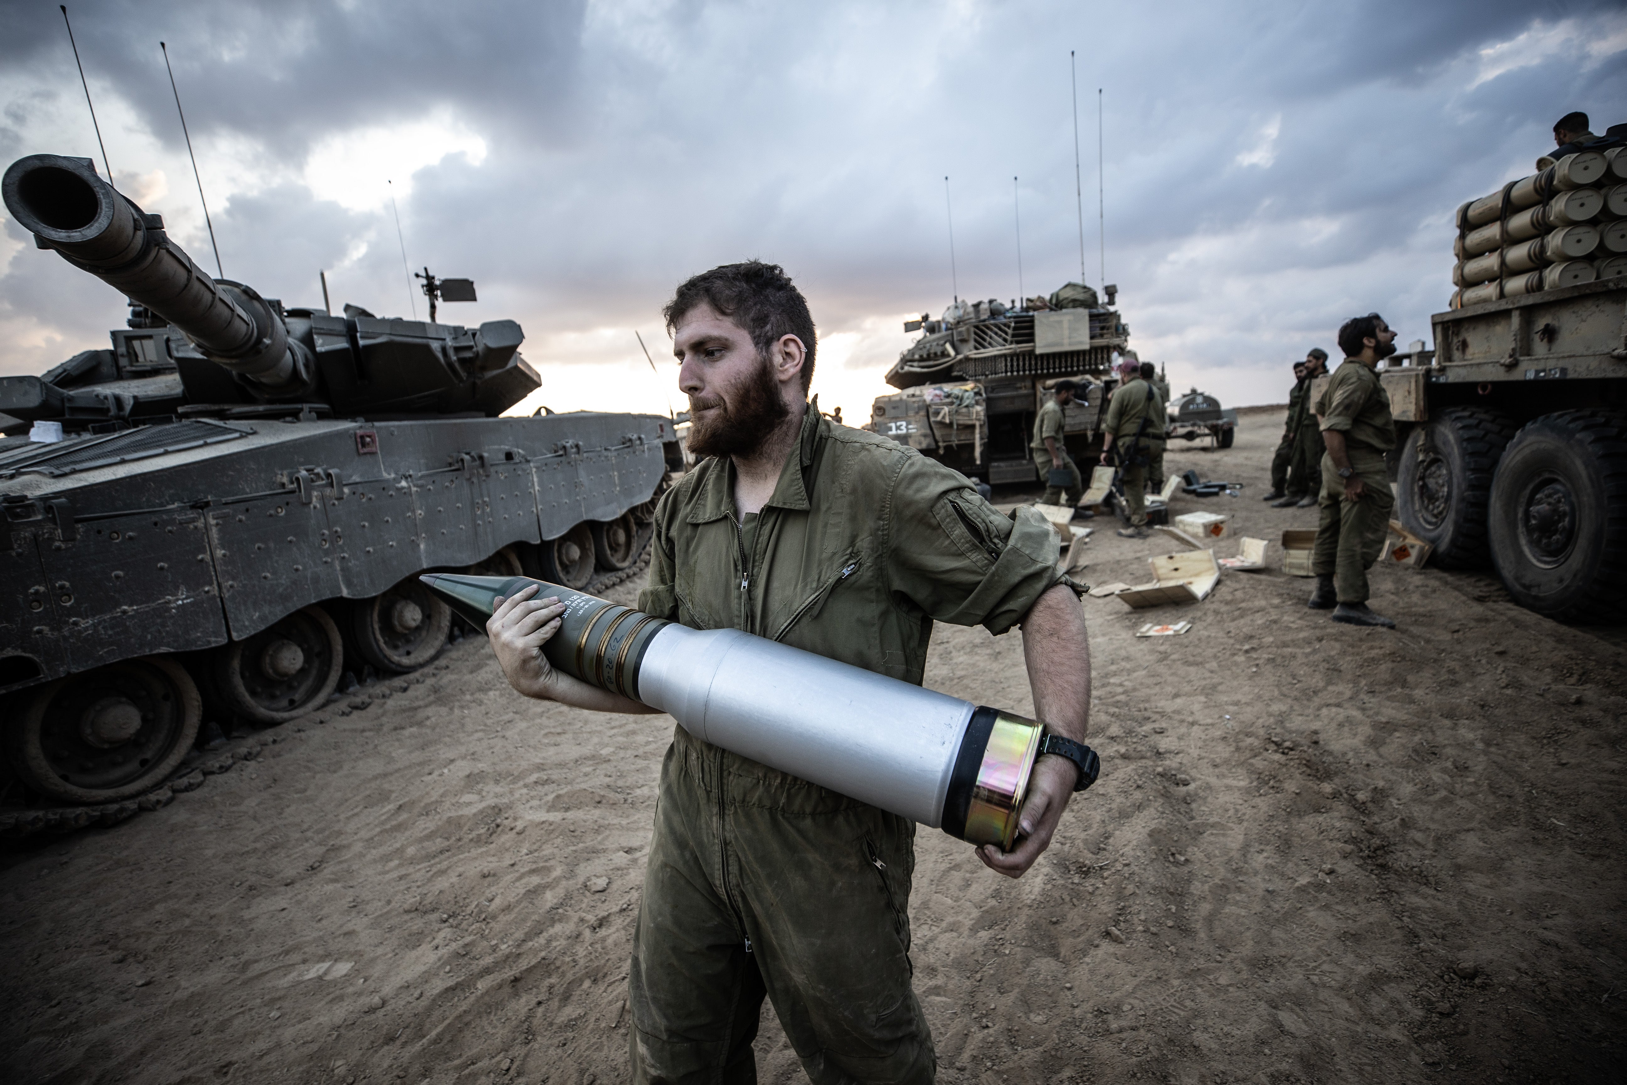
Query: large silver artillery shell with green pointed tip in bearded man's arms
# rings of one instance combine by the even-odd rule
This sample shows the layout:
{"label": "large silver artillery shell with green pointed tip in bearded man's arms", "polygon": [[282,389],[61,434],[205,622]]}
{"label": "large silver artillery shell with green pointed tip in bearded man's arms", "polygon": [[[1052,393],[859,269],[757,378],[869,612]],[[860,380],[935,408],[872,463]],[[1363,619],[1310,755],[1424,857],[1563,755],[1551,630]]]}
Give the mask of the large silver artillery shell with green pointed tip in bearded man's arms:
{"label": "large silver artillery shell with green pointed tip in bearded man's arms", "polygon": [[690,630],[524,576],[418,577],[485,626],[539,586],[565,604],[555,669],[704,742],[973,844],[1010,851],[1043,727],[739,630]]}

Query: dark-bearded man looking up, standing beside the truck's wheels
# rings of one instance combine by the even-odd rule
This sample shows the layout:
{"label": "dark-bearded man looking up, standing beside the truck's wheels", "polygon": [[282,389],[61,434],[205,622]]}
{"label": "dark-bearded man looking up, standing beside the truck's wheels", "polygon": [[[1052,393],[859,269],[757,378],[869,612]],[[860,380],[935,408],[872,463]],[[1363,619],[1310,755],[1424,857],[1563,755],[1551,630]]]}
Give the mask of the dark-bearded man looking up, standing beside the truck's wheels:
{"label": "dark-bearded man looking up, standing beside the truck's wheels", "polygon": [[1321,522],[1311,571],[1316,590],[1310,607],[1333,608],[1346,625],[1396,623],[1367,605],[1367,571],[1378,560],[1389,529],[1389,472],[1385,452],[1396,447],[1396,421],[1389,394],[1378,381],[1380,358],[1396,353],[1396,333],[1376,312],[1354,317],[1339,329],[1344,363],[1318,397],[1315,413],[1328,452],[1323,455]]}

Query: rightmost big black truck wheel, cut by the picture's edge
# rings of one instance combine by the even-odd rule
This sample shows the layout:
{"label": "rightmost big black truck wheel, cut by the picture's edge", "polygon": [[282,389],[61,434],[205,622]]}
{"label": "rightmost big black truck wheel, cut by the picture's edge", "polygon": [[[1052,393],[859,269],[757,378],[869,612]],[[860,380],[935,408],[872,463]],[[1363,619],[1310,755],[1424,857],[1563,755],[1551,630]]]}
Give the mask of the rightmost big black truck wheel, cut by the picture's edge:
{"label": "rightmost big black truck wheel, cut by the picture's edge", "polygon": [[1521,607],[1562,621],[1619,621],[1627,604],[1627,416],[1546,415],[1521,429],[1492,481],[1492,563]]}

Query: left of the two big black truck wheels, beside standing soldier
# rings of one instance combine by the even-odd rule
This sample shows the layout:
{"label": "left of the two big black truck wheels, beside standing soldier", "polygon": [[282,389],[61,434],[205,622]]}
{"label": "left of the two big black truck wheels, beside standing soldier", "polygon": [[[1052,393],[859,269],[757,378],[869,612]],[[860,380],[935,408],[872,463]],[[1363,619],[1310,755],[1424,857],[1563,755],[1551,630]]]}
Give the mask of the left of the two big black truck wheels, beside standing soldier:
{"label": "left of the two big black truck wheels, beside standing soldier", "polygon": [[1433,547],[1446,569],[1485,564],[1485,506],[1492,473],[1515,425],[1497,412],[1453,407],[1419,426],[1401,451],[1401,522]]}

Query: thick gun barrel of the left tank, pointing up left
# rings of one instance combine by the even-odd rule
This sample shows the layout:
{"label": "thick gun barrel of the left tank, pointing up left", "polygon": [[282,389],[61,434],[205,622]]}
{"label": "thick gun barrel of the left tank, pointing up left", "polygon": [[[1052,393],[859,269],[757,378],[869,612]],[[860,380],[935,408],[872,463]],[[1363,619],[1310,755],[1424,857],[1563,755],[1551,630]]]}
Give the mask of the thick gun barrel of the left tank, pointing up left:
{"label": "thick gun barrel of the left tank, pointing up left", "polygon": [[29,155],[0,179],[0,195],[41,249],[55,249],[181,329],[213,363],[262,399],[304,397],[316,384],[306,348],[249,286],[203,273],[146,215],[96,176],[88,158]]}

